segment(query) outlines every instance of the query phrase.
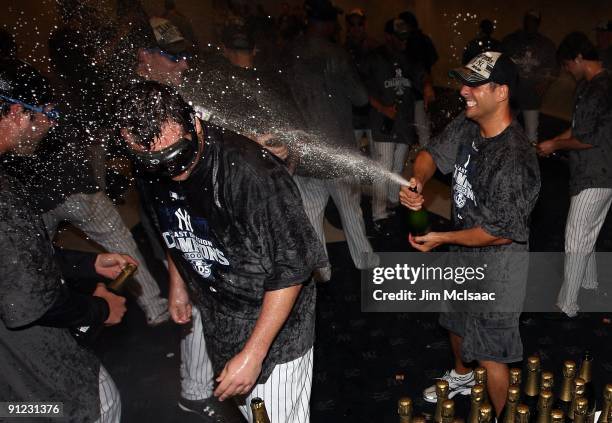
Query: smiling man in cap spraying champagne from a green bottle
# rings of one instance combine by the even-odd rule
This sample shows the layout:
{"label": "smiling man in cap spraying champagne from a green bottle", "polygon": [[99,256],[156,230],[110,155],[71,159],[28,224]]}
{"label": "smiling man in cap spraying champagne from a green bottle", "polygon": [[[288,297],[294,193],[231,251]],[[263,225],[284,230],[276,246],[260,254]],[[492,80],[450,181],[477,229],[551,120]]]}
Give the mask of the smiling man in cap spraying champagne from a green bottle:
{"label": "smiling man in cap spraying champagne from a green bottle", "polygon": [[[423,186],[436,168],[453,172],[454,231],[410,237],[419,251],[450,244],[455,252],[525,252],[529,245],[529,215],[538,197],[540,176],[535,150],[513,120],[510,99],[517,84],[516,66],[501,53],[486,52],[465,67],[451,71],[462,83],[465,113],[458,116],[419,153],[410,187],[400,200],[421,209]],[[496,257],[497,258],[497,257]],[[510,262],[501,263],[500,269]],[[510,260],[508,258],[508,260]],[[492,283],[506,283],[494,274]],[[499,286],[499,285],[497,285]],[[445,313],[440,324],[449,330],[455,367],[443,379],[449,397],[467,395],[473,372],[464,363],[477,361],[487,369],[491,402],[499,415],[509,385],[506,363],[520,361],[523,347],[516,313]],[[435,402],[435,386],[424,391]]]}

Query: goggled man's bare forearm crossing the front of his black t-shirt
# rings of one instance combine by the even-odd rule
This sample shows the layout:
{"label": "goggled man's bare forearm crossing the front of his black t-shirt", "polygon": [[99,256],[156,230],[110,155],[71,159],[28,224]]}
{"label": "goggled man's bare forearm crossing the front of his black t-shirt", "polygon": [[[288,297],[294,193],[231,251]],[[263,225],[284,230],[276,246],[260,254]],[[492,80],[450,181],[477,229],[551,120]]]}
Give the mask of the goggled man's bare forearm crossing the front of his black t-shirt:
{"label": "goggled man's bare forearm crossing the front of his black t-shirt", "polygon": [[295,285],[289,288],[267,291],[264,294],[261,313],[243,351],[252,353],[263,361],[268,354],[270,345],[272,345],[276,335],[289,317],[301,289],[302,285]]}

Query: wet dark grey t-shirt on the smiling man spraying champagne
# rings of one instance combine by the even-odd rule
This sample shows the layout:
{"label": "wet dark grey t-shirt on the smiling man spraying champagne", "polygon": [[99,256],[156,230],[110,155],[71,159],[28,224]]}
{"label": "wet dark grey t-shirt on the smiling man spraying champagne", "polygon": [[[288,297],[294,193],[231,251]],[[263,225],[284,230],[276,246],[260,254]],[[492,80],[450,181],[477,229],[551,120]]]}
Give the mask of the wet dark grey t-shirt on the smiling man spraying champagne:
{"label": "wet dark grey t-shirt on the smiling man spraying champagne", "polygon": [[436,166],[453,172],[455,229],[480,226],[512,244],[464,251],[528,251],[529,215],[540,190],[535,150],[513,121],[501,134],[484,138],[462,113],[428,146]]}

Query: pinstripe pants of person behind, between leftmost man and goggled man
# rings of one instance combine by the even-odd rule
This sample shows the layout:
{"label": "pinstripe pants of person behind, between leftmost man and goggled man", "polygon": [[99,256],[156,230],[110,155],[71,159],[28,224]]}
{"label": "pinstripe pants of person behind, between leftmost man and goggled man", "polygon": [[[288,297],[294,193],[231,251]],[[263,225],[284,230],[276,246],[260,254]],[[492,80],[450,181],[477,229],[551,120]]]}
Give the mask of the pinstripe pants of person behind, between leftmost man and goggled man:
{"label": "pinstripe pants of person behind, between leftmost man and goggled man", "polygon": [[132,234],[106,194],[73,194],[55,209],[43,214],[42,218],[51,239],[59,223],[67,220],[107,251],[128,254],[136,259],[140,266],[135,279],[142,288],[142,294],[136,299],[138,305],[148,321],[167,312],[167,300],[159,296],[157,282],[149,272]]}

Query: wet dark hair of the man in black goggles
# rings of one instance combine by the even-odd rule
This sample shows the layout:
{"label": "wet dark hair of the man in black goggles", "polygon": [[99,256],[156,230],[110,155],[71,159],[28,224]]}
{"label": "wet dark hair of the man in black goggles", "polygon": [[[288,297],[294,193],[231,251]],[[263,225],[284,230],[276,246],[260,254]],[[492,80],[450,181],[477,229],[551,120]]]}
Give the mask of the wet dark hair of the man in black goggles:
{"label": "wet dark hair of the man in black goggles", "polygon": [[180,124],[185,131],[193,121],[193,109],[178,91],[153,81],[129,85],[117,98],[116,128],[137,135],[135,141],[150,150],[168,121]]}

